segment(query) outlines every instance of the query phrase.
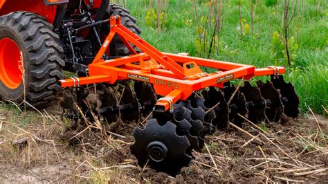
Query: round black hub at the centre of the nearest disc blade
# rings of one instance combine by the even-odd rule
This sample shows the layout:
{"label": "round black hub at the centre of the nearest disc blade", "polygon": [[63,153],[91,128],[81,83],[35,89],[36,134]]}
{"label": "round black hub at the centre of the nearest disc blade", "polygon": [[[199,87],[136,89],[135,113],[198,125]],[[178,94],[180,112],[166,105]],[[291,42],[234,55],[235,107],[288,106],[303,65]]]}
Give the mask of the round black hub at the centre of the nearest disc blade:
{"label": "round black hub at the centre of the nearest disc blade", "polygon": [[162,142],[151,142],[147,146],[147,154],[154,162],[160,163],[166,157],[167,147]]}

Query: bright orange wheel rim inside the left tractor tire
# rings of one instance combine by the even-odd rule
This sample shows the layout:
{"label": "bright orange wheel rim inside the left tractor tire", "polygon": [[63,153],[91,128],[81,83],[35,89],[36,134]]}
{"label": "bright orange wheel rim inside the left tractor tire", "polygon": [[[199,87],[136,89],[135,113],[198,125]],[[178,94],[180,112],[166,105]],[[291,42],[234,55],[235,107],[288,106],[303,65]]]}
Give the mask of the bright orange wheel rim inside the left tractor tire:
{"label": "bright orange wheel rim inside the left tractor tire", "polygon": [[12,39],[0,40],[0,67],[1,82],[9,89],[17,89],[23,81],[23,57]]}

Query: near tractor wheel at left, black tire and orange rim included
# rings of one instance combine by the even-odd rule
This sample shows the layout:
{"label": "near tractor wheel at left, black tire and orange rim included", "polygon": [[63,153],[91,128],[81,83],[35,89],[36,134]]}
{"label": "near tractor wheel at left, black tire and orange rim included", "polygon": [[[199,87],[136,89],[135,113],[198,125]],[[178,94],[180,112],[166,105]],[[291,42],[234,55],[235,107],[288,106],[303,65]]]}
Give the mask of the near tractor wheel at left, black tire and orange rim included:
{"label": "near tractor wheel at left, black tire and orange rim included", "polygon": [[0,17],[0,95],[42,107],[61,90],[63,48],[53,26],[31,12]]}

